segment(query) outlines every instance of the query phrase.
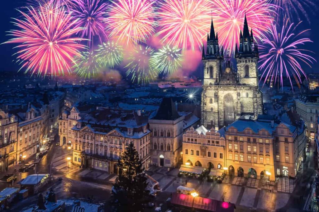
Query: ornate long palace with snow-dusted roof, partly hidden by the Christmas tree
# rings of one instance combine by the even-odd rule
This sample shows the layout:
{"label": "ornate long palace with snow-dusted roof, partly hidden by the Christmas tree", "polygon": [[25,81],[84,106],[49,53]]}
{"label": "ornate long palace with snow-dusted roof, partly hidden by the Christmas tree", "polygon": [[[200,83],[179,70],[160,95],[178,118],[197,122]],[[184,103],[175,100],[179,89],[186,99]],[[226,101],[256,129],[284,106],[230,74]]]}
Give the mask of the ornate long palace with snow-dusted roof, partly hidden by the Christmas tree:
{"label": "ornate long palace with snow-dusted roof, partly hidden by the Christmas tree", "polygon": [[133,142],[144,168],[150,164],[148,118],[140,110],[73,107],[59,120],[60,144],[72,147],[72,163],[117,173],[125,147]]}

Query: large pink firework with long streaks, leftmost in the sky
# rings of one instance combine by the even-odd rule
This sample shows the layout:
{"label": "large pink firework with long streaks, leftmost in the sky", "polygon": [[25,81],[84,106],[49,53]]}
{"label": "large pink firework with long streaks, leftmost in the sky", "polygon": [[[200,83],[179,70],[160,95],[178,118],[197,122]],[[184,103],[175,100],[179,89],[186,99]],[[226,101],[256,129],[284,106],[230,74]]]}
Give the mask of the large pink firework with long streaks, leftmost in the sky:
{"label": "large pink firework with long streaks, leftmost in the sky", "polygon": [[77,20],[71,14],[58,7],[50,10],[49,7],[39,6],[27,8],[27,13],[18,10],[22,19],[14,18],[14,25],[19,29],[11,30],[9,35],[14,36],[5,43],[17,43],[19,50],[17,62],[25,72],[38,75],[64,75],[70,72],[70,63],[75,63],[73,57],[80,56],[79,49],[85,46],[78,44],[82,38],[75,37],[81,30],[77,27]]}

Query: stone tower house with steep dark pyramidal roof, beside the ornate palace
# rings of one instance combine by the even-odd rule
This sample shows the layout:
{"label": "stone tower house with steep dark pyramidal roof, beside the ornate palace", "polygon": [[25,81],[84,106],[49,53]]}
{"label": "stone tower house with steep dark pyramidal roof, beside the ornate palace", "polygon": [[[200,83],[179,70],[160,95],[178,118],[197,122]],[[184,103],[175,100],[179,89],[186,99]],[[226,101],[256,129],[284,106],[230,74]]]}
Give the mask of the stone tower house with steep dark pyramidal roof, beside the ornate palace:
{"label": "stone tower house with steep dark pyramidal roof, beside the ornate palace", "polygon": [[156,115],[149,121],[152,165],[176,167],[182,161],[183,133],[199,118],[192,112],[178,112],[171,98],[163,98]]}

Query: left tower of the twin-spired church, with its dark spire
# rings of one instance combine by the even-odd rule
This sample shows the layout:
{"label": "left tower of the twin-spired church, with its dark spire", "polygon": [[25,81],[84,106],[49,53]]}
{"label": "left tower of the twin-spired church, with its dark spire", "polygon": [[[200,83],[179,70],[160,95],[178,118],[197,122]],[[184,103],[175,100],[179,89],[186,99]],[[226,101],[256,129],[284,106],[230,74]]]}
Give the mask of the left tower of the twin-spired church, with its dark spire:
{"label": "left tower of the twin-spired church, with its dark spire", "polygon": [[213,19],[211,19],[211,31],[207,34],[206,54],[203,44],[202,60],[204,63],[204,85],[210,85],[219,82],[221,65],[224,59],[223,49],[219,51],[218,34],[214,31]]}

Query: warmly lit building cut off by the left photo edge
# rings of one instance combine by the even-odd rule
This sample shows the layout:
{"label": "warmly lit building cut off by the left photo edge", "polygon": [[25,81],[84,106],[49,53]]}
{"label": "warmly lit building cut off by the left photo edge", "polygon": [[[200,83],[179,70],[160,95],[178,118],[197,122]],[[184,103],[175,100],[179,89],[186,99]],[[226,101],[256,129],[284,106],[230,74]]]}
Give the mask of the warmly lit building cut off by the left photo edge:
{"label": "warmly lit building cut off by the left photo edge", "polygon": [[16,162],[18,118],[0,109],[0,172]]}

